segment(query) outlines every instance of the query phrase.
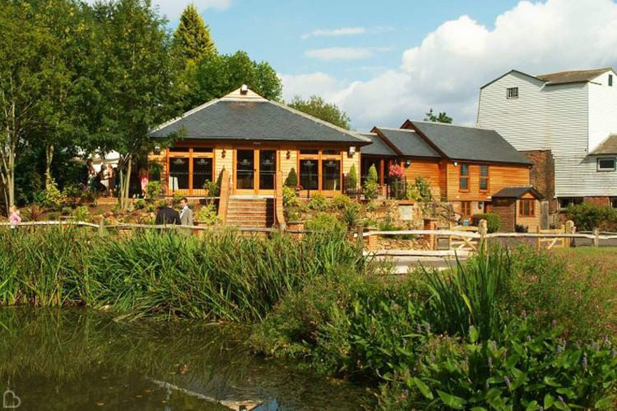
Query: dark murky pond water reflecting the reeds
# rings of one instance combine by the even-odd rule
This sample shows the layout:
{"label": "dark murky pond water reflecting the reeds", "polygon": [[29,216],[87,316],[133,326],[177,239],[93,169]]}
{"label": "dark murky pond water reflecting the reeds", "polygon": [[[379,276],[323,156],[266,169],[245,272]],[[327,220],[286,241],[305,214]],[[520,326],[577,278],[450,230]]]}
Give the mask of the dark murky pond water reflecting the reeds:
{"label": "dark murky pond water reflecting the reeds", "polygon": [[19,411],[371,409],[361,388],[251,355],[242,342],[247,334],[195,322],[123,322],[85,309],[0,309],[2,405],[19,404]]}

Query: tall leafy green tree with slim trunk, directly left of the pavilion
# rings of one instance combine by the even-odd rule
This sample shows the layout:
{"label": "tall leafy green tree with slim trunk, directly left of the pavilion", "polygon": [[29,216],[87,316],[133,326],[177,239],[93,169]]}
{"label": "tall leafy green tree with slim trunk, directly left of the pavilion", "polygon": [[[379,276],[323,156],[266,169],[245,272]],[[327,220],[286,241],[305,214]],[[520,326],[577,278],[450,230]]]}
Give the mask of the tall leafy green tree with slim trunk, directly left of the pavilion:
{"label": "tall leafy green tree with slim trunk, directly left of the pavilion", "polygon": [[96,3],[100,48],[93,58],[98,90],[90,148],[120,153],[120,206],[129,196],[134,160],[152,149],[149,131],[177,114],[175,70],[166,20],[147,0]]}

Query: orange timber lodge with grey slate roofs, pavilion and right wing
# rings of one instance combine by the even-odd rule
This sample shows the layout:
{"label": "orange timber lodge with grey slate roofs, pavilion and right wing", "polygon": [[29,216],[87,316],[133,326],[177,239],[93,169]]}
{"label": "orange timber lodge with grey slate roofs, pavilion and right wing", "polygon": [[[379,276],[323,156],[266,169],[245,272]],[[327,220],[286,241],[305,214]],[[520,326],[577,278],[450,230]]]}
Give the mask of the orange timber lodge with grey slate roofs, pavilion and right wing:
{"label": "orange timber lodge with grey slate roofs, pavilion and right wing", "polygon": [[[263,201],[275,197],[276,178],[284,181],[292,168],[300,196],[333,196],[357,189],[349,186],[352,165],[363,181],[373,164],[381,195],[387,193],[389,166],[399,164],[404,178],[426,178],[434,197],[452,202],[463,218],[491,211],[492,196],[504,189],[537,193],[529,190],[531,161],[496,131],[406,120],[400,128],[355,133],[268,101],[246,86],[164,123],[151,138],[173,134],[181,138],[149,156],[162,168],[167,196],[203,197],[205,181],[226,170],[230,199]],[[538,218],[540,208],[534,203],[525,217]],[[514,230],[510,223],[504,228]]]}

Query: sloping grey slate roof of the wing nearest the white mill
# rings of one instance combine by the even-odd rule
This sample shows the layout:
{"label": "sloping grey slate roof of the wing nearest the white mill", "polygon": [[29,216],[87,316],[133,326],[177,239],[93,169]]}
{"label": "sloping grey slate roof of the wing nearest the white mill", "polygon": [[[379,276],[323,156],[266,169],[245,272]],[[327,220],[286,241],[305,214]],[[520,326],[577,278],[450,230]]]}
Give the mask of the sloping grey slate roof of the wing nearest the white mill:
{"label": "sloping grey slate roof of the wing nearest the white mill", "polygon": [[533,164],[494,130],[407,120],[409,126],[451,160]]}

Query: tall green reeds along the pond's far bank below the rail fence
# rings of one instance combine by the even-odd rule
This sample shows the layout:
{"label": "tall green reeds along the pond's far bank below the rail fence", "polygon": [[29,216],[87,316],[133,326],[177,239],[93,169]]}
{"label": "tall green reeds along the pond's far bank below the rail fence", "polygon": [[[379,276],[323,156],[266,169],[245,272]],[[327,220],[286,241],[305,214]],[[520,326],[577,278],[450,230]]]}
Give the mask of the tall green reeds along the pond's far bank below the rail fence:
{"label": "tall green reeds along the pond's far bank below the rail fence", "polygon": [[307,278],[341,267],[362,271],[359,255],[336,233],[297,241],[233,231],[202,238],[148,232],[118,240],[78,228],[0,230],[0,304],[255,322]]}

